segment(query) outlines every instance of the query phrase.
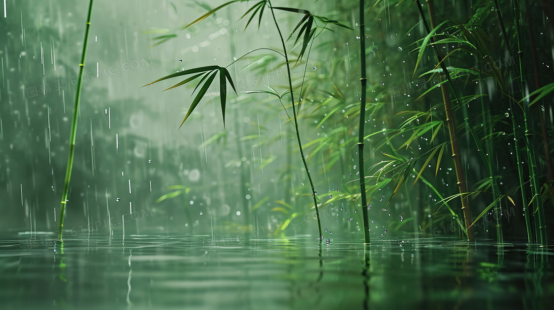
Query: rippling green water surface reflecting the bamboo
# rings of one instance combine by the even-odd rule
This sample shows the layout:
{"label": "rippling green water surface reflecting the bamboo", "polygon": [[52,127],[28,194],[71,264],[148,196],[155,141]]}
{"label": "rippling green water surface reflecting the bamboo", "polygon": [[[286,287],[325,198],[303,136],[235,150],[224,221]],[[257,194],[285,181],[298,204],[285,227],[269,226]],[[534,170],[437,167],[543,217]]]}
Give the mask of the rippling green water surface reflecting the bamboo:
{"label": "rippling green water surface reflecting the bamboo", "polygon": [[[0,239],[2,309],[548,309],[552,251],[511,243],[48,233]],[[368,257],[368,263],[365,263]]]}

